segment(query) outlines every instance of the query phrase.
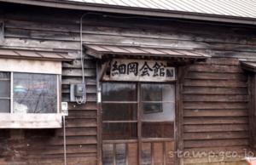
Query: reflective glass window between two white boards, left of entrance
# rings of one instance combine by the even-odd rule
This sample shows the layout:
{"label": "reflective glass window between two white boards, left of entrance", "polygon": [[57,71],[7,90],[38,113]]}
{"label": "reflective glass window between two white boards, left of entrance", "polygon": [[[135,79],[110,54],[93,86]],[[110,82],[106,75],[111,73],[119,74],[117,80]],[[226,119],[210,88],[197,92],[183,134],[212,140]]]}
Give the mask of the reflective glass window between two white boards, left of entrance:
{"label": "reflective glass window between two white boards, left of entrance", "polygon": [[0,112],[57,113],[58,80],[54,74],[0,72]]}

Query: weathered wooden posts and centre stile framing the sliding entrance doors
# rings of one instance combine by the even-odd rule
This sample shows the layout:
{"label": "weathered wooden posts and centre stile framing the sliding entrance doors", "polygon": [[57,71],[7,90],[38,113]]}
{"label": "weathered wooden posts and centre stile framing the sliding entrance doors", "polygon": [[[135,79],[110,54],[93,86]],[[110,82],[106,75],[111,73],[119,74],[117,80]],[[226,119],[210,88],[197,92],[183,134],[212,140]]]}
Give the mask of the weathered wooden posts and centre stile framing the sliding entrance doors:
{"label": "weathered wooden posts and centre stile framing the sliding entrance doors", "polygon": [[[102,81],[102,77],[104,74],[104,71],[106,71],[106,65],[102,68],[102,65],[97,62],[97,77],[96,77],[96,91],[97,91],[97,97],[99,95],[102,97],[102,82],[109,82],[109,81]],[[104,71],[103,71],[104,70]],[[175,120],[174,120],[174,151],[183,151],[183,97],[181,94],[183,91],[183,80],[184,77],[186,76],[188,71],[188,65],[185,66],[177,66],[176,67],[176,75],[177,79],[176,81],[170,82],[175,85]],[[124,82],[125,83],[125,82]],[[137,82],[137,86],[139,86],[139,82]],[[140,91],[137,89],[137,91]],[[98,98],[99,99],[99,98]],[[139,97],[137,98],[139,100]],[[138,106],[140,104],[137,104]],[[97,102],[97,164],[102,165],[102,100]],[[137,110],[139,110],[139,107],[137,107]],[[139,115],[139,111],[137,111]],[[139,116],[138,117],[138,122],[141,122],[141,119]],[[138,131],[138,139],[139,136],[141,136],[141,123],[140,125],[140,130]],[[139,128],[138,128],[139,129]],[[140,132],[140,133],[139,133]],[[140,149],[142,148],[142,142],[141,140],[138,141],[138,163],[141,164],[141,151]],[[165,157],[164,157],[165,158]],[[177,154],[174,156],[174,164],[175,165],[183,165],[183,158],[177,157]]]}

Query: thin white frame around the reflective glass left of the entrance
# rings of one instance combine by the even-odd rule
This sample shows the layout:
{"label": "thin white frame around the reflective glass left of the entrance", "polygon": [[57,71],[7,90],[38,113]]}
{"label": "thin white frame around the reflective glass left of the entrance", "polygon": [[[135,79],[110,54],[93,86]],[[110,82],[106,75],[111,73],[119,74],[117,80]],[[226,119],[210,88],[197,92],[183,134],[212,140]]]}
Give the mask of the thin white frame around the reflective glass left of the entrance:
{"label": "thin white frame around the reflective glass left of the entrance", "polygon": [[[15,114],[14,111],[14,73],[27,73],[27,74],[38,74],[38,75],[54,75],[56,77],[56,92],[57,92],[57,111],[55,113],[22,113],[22,114],[61,114],[61,75],[60,74],[49,74],[49,73],[34,73],[34,72],[18,72],[18,71],[0,71],[6,72],[10,74],[9,83],[10,83],[10,94],[9,94],[9,102],[10,109],[9,112],[1,112],[0,116],[3,114]],[[1,81],[1,80],[0,80]]]}

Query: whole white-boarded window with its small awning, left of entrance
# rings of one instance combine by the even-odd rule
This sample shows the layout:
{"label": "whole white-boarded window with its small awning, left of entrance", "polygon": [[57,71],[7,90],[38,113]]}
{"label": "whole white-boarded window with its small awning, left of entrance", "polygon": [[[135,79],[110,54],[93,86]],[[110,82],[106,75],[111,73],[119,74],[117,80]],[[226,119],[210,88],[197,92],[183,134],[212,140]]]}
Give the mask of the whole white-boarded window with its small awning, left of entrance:
{"label": "whole white-boarded window with its small awning, left of entrance", "polygon": [[61,128],[61,61],[71,57],[23,49],[1,52],[0,128]]}

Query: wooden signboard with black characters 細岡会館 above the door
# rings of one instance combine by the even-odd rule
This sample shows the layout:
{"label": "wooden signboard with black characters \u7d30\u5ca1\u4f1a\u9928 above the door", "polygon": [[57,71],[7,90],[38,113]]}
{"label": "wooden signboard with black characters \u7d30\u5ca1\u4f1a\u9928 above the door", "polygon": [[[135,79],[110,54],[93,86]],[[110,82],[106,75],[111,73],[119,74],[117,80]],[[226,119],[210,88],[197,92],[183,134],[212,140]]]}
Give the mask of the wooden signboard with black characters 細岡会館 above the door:
{"label": "wooden signboard with black characters \u7d30\u5ca1\u4f1a\u9928 above the door", "polygon": [[121,60],[111,62],[110,80],[166,82],[175,80],[175,68],[162,60]]}

